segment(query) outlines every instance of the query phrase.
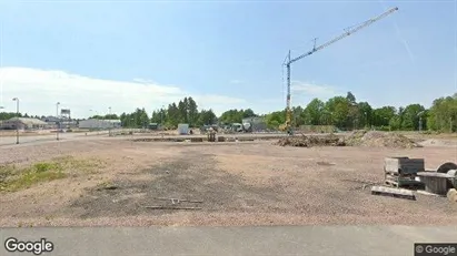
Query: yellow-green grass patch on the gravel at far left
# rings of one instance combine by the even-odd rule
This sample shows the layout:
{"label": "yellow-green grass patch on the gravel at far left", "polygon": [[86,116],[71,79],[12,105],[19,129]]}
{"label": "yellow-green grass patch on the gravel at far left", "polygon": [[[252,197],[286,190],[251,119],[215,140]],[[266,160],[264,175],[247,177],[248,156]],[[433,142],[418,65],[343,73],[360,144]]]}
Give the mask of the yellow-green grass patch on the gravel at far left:
{"label": "yellow-green grass patch on the gravel at far left", "polygon": [[0,166],[0,192],[16,192],[36,184],[64,178],[70,174],[96,173],[105,163],[97,158],[77,160],[57,157],[49,162],[34,163],[27,167]]}

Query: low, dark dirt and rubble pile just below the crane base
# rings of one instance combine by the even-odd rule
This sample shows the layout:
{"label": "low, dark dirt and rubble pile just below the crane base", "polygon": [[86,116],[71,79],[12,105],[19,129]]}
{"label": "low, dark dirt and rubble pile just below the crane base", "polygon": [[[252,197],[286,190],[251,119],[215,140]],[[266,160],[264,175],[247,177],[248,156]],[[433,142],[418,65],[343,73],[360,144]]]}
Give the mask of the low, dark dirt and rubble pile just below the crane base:
{"label": "low, dark dirt and rubble pile just below the crane base", "polygon": [[325,136],[290,136],[290,137],[281,137],[275,145],[280,146],[301,146],[301,147],[309,147],[309,146],[345,146],[346,143],[342,139],[330,134]]}

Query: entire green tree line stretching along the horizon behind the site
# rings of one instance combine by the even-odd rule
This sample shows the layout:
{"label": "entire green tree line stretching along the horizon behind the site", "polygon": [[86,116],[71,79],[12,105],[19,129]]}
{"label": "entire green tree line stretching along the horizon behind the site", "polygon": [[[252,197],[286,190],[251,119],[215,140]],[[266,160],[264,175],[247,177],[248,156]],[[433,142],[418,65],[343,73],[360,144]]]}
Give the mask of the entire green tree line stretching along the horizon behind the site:
{"label": "entire green tree line stretching along the horizon behind the site", "polygon": [[[297,127],[300,125],[334,125],[344,131],[364,127],[376,127],[384,131],[457,131],[457,93],[436,99],[429,109],[417,103],[398,109],[391,105],[374,109],[368,102],[357,102],[356,96],[348,92],[346,96],[334,96],[326,102],[314,99],[305,107],[292,107],[291,112],[292,125]],[[29,116],[27,113],[0,112],[0,120],[14,116],[40,119],[38,115]],[[199,110],[195,100],[189,96],[177,103],[170,103],[167,107],[155,110],[150,115],[145,109],[136,109],[131,113],[125,112],[119,116],[108,114],[91,117],[120,120],[122,126],[126,127],[145,127],[149,123],[158,123],[173,129],[179,123],[188,123],[192,127],[217,123],[241,123],[242,119],[251,116],[262,116],[269,129],[278,129],[286,122],[286,110],[260,115],[251,109],[234,109],[217,117],[211,109]]]}

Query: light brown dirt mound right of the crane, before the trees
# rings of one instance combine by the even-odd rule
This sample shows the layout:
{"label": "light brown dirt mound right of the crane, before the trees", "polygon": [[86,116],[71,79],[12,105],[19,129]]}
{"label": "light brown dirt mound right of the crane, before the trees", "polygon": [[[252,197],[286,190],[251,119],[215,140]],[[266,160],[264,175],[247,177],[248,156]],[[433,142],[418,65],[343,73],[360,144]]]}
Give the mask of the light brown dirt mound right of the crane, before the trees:
{"label": "light brown dirt mound right of the crane, before the trees", "polygon": [[420,145],[397,133],[356,131],[345,140],[351,146],[413,149]]}

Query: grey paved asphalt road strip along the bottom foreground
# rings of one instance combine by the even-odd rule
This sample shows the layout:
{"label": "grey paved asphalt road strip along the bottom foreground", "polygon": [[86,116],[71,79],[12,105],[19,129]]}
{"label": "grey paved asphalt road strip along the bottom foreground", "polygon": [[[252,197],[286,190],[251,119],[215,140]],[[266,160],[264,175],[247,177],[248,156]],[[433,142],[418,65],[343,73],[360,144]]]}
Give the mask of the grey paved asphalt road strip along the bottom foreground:
{"label": "grey paved asphalt road strip along the bottom foreground", "polygon": [[8,237],[46,238],[53,252],[41,255],[325,255],[413,256],[414,243],[456,243],[457,227],[275,226],[275,227],[92,227],[3,228]]}

